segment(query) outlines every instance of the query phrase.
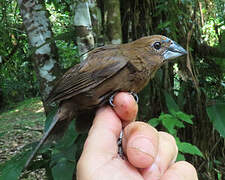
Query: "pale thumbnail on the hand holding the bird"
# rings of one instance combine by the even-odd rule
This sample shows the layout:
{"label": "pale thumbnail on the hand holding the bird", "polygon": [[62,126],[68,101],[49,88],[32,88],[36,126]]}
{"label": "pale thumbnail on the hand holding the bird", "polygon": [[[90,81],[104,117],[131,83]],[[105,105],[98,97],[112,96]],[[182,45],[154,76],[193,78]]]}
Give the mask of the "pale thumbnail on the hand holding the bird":
{"label": "pale thumbnail on the hand holding the bird", "polygon": [[130,148],[135,148],[141,152],[144,152],[150,156],[156,156],[155,148],[149,138],[146,137],[137,137],[129,145]]}

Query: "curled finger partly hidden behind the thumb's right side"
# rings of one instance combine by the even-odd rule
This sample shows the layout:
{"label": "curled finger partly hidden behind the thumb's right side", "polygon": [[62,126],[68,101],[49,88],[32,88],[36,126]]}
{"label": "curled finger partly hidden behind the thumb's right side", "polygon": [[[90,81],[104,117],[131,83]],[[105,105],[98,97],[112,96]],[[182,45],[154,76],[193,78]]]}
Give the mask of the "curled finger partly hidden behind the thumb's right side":
{"label": "curled finger partly hidden behind the thumb's right side", "polygon": [[159,132],[158,154],[154,163],[141,170],[145,179],[160,178],[165,171],[175,162],[178,148],[173,136],[165,132]]}

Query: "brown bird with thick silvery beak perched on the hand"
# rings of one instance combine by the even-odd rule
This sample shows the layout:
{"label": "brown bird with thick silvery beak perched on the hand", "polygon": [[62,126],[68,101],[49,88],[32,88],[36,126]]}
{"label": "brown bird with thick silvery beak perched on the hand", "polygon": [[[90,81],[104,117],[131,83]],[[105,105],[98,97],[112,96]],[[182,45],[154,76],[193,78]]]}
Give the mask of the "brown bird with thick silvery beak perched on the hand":
{"label": "brown bird with thick silvery beak perched on the hand", "polygon": [[26,167],[52,130],[63,132],[75,117],[77,130],[87,130],[96,109],[112,95],[119,91],[138,93],[168,59],[184,54],[180,45],[161,35],[90,51],[84,61],[59,79],[50,93],[47,102],[59,102],[59,109]]}

